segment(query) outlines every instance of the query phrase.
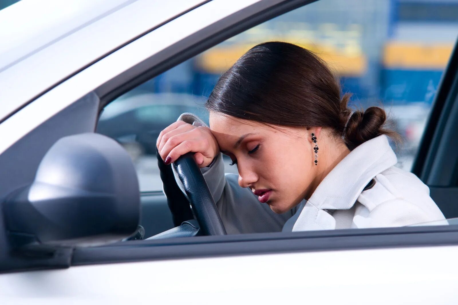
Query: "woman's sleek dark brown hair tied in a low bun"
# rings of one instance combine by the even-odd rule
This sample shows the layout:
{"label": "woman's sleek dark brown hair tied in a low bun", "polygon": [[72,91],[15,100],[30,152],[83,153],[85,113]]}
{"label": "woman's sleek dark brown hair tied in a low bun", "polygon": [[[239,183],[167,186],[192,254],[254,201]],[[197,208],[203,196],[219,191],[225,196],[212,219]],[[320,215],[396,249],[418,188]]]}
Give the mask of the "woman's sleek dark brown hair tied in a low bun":
{"label": "woman's sleek dark brown hair tied in a low bun", "polygon": [[[267,42],[246,52],[218,80],[206,107],[236,118],[261,123],[330,128],[350,150],[381,134],[387,115],[380,107],[355,111],[341,97],[338,80],[311,51],[284,42]],[[345,123],[347,128],[344,129]]]}

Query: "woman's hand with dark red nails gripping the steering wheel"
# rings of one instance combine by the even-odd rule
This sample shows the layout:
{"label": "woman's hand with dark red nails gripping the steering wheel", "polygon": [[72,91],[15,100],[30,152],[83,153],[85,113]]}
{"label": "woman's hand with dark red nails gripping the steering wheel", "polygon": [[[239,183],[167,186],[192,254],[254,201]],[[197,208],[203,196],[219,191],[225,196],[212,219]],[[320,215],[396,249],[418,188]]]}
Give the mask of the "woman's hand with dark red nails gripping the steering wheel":
{"label": "woman's hand with dark red nails gripping the steering wheel", "polygon": [[218,142],[210,128],[193,126],[183,121],[172,123],[161,131],[156,146],[165,164],[192,151],[195,152],[194,160],[202,168],[212,163],[219,153]]}

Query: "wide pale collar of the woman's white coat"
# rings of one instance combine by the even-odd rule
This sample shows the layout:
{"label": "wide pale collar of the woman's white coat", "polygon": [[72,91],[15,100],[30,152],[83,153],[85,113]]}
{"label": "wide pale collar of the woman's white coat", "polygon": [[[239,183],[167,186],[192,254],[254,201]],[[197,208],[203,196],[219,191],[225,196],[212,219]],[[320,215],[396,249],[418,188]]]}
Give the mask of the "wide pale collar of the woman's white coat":
{"label": "wide pale collar of the woman's white coat", "polygon": [[296,212],[300,214],[293,231],[334,229],[333,216],[323,209],[350,209],[367,183],[397,161],[386,135],[360,144],[324,177],[303,209]]}

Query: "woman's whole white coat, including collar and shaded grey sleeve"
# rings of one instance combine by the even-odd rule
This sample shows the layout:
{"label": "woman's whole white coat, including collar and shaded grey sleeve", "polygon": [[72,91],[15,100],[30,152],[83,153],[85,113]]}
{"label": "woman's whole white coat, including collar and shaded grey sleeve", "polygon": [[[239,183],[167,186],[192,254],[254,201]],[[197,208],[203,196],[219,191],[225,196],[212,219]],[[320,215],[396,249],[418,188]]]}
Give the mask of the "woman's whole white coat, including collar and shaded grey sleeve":
{"label": "woman's whole white coat, including collar and shaded grey sleeve", "polygon": [[[203,123],[190,113],[179,120]],[[396,163],[386,135],[371,139],[340,161],[309,200],[284,214],[273,213],[249,188],[240,187],[237,175],[224,175],[221,154],[202,173],[228,234],[396,227],[445,219],[429,188]]]}

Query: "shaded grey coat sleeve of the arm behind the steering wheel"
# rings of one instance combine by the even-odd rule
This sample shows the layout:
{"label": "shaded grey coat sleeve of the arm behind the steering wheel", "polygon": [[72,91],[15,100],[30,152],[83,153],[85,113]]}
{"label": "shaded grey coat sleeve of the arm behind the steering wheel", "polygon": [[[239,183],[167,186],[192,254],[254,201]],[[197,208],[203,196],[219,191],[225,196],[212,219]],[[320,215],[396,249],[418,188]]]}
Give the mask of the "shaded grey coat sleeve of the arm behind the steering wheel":
{"label": "shaded grey coat sleeve of the arm behind the steering wheel", "polygon": [[[184,121],[191,124],[191,118],[197,118],[189,113],[182,114],[180,118],[183,116]],[[250,189],[239,186],[237,175],[224,174],[221,153],[210,166],[202,168],[201,171],[228,234],[280,232],[284,223],[295,212],[294,208],[284,214],[275,214],[266,203],[260,203]],[[175,172],[174,175],[183,192],[184,187],[178,175]]]}

